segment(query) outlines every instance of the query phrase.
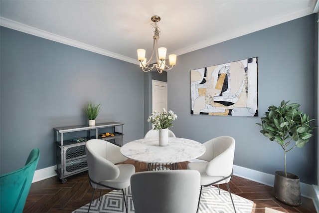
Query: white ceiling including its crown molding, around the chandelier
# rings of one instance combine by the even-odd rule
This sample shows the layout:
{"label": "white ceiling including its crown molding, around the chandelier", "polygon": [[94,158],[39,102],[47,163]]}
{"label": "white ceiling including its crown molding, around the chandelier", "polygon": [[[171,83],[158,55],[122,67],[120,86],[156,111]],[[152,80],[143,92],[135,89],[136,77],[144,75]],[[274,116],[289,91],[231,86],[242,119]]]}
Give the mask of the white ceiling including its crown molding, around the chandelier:
{"label": "white ceiling including its crown molding, around the chandelier", "polygon": [[314,12],[317,0],[1,0],[0,24],[138,64],[152,15],[159,45],[180,55]]}

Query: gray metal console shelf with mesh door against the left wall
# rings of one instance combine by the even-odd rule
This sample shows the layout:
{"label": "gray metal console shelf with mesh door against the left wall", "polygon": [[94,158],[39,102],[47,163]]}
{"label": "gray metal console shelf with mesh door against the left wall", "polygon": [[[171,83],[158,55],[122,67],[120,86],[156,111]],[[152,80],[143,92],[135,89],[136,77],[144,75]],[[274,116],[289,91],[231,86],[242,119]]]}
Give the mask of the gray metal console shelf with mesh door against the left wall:
{"label": "gray metal console shelf with mesh door against the left wall", "polygon": [[[77,125],[68,127],[55,127],[56,143],[56,173],[62,183],[66,183],[69,176],[88,170],[85,143],[90,139],[102,139],[114,143],[120,147],[123,146],[123,125],[120,122],[100,123],[95,126]],[[102,138],[105,134],[102,130],[107,129],[114,136]],[[79,139],[66,139],[76,134],[85,135]],[[70,136],[71,135],[71,136]]]}

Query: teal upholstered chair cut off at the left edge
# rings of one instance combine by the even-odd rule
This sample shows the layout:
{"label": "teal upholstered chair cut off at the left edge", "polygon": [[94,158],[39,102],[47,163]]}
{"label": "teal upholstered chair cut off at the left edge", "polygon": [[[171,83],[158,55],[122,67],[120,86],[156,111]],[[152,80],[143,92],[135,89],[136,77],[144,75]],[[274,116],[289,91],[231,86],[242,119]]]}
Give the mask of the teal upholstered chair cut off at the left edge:
{"label": "teal upholstered chair cut off at the left edge", "polygon": [[23,212],[39,157],[40,151],[35,148],[30,152],[24,167],[0,176],[1,213]]}

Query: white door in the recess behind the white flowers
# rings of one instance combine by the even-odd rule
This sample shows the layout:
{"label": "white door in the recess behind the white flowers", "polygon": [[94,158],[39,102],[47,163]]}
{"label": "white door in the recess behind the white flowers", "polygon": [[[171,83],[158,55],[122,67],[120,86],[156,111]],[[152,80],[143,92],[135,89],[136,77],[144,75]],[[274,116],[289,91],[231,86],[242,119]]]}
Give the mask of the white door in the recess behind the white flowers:
{"label": "white door in the recess behind the white flowers", "polygon": [[167,110],[167,82],[152,80],[152,112]]}

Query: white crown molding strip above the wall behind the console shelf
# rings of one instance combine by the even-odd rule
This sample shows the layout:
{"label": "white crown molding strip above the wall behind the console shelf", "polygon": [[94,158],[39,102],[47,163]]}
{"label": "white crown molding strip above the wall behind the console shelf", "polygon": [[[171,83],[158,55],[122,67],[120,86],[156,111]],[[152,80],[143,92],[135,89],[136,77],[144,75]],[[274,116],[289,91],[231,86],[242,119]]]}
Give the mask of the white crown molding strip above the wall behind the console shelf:
{"label": "white crown molding strip above the wall behind the console shelf", "polygon": [[72,39],[69,39],[69,38],[66,38],[66,37],[63,37],[60,35],[56,35],[56,34],[41,30],[41,29],[37,29],[35,27],[28,26],[26,24],[22,24],[20,22],[13,21],[13,20],[10,20],[10,19],[4,18],[4,17],[0,17],[0,25],[7,27],[7,28],[10,28],[10,29],[14,29],[17,31],[21,31],[24,33],[35,35],[35,36],[38,36],[41,38],[45,38],[48,40],[63,43],[63,44],[69,45],[69,46],[74,46],[74,47],[77,47],[80,49],[85,49],[85,50],[88,50],[90,52],[95,52],[95,53],[98,53],[101,55],[116,58],[116,59],[126,61],[129,63],[139,64],[138,60],[136,60],[136,59],[129,58],[129,57],[126,57],[126,56],[123,56],[123,55],[120,55],[120,54],[117,54],[114,52],[107,51],[105,49],[101,49],[101,48],[98,48],[98,47],[95,47],[92,45],[88,45],[88,44],[85,44],[85,43],[82,43],[82,42],[79,42],[76,40],[72,40]]}

